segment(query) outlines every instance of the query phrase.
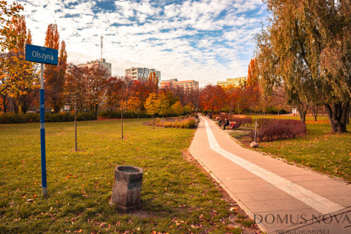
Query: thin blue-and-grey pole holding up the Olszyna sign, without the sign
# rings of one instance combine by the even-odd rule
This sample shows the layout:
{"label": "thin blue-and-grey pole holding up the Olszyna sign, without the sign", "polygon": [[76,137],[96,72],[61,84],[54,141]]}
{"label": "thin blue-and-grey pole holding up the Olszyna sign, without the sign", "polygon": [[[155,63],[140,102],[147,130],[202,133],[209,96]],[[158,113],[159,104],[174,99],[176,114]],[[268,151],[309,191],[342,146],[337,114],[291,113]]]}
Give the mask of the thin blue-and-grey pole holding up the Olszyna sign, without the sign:
{"label": "thin blue-and-grey pole holding up the Olszyna sign, without the sign", "polygon": [[40,149],[41,149],[41,182],[42,194],[48,194],[47,187],[47,165],[45,153],[45,107],[44,107],[44,63],[41,63],[40,72]]}

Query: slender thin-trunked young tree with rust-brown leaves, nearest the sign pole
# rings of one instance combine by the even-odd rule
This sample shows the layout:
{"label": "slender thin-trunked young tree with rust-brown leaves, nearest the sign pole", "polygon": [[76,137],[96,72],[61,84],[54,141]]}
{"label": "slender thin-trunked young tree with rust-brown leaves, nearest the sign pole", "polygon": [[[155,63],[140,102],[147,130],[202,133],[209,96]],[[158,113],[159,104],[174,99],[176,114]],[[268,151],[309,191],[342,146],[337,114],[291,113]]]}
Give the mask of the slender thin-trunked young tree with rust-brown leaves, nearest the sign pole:
{"label": "slender thin-trunked young tree with rust-brown leaves, nearest the sign pole", "polygon": [[87,69],[78,67],[72,63],[67,66],[66,82],[65,82],[65,95],[67,103],[74,109],[74,149],[77,148],[77,112],[84,107],[80,105],[86,103],[87,94]]}

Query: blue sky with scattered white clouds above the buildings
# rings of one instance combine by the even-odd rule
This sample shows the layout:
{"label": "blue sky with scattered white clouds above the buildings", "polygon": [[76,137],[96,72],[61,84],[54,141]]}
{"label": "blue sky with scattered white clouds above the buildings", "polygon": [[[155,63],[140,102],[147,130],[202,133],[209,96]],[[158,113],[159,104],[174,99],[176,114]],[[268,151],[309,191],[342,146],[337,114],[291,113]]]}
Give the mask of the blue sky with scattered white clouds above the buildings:
{"label": "blue sky with scattered white clouds above the buildings", "polygon": [[268,16],[261,0],[25,0],[21,14],[33,44],[50,23],[66,43],[68,62],[103,57],[112,74],[155,68],[161,79],[194,79],[203,87],[247,75],[254,33]]}

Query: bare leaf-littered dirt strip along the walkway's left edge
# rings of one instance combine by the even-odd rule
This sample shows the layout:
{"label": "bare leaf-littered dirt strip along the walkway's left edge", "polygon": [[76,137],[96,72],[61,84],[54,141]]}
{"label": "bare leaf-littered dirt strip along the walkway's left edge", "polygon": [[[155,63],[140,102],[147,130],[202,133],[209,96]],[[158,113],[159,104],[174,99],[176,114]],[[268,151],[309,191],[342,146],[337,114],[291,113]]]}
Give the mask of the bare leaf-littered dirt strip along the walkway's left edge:
{"label": "bare leaf-littered dirt strip along the walkway's left edge", "polygon": [[[229,214],[226,218],[223,218],[223,222],[228,226],[226,231],[228,233],[237,233],[238,228],[241,229],[241,233],[244,234],[261,234],[262,231],[255,224],[245,211],[239,207],[239,205],[229,196],[229,194],[221,187],[211,175],[201,166],[201,164],[189,153],[189,151],[183,151],[182,153],[184,159],[197,168],[199,168],[203,173],[206,174],[207,178],[212,181],[213,185],[220,191],[222,194],[222,200],[229,203],[231,211],[234,211],[234,214]],[[215,213],[214,213],[215,214]],[[240,232],[238,232],[240,233]]]}

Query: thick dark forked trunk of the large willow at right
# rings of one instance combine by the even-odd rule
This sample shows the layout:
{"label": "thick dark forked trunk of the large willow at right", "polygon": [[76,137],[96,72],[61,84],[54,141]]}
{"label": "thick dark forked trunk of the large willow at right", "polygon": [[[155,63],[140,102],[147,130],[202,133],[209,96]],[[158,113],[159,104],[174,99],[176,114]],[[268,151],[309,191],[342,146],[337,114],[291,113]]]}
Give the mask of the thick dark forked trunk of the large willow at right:
{"label": "thick dark forked trunk of the large willow at right", "polygon": [[347,114],[350,109],[350,102],[325,104],[329,123],[333,132],[346,132]]}

